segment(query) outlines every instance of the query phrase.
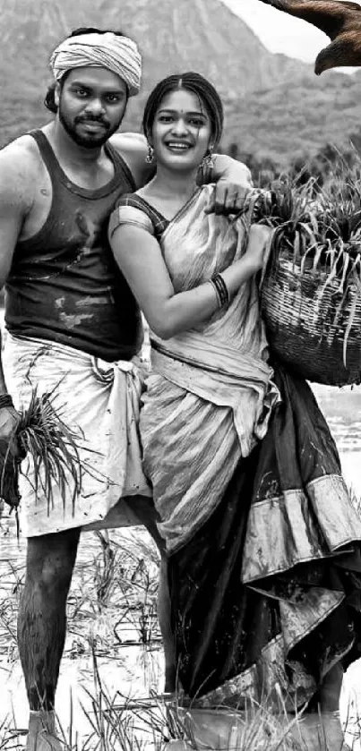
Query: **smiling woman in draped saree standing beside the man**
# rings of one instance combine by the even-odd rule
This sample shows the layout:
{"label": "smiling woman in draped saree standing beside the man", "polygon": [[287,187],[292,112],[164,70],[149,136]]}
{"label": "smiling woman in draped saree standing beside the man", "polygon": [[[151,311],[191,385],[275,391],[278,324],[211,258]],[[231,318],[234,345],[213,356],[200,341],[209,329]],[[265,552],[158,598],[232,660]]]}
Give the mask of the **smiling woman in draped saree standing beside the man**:
{"label": "smiling woman in draped saree standing beside the man", "polygon": [[157,174],[109,227],[150,324],[141,433],[177,676],[203,706],[280,691],[291,708],[316,696],[333,710],[356,643],[361,524],[310,388],[267,362],[268,230],[207,213],[212,186],[197,187],[222,123],[202,76],[161,81],[143,118]]}

